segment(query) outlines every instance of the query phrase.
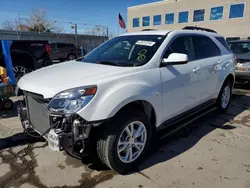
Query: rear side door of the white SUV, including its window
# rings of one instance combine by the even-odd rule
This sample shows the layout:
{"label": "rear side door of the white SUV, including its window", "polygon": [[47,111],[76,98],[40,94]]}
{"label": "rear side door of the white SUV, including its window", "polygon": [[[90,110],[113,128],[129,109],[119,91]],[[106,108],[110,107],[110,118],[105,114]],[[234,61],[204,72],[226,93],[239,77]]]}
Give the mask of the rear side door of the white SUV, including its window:
{"label": "rear side door of the white SUV, including its window", "polygon": [[207,36],[192,36],[197,70],[197,87],[200,88],[198,103],[201,104],[213,98],[217,92],[220,76],[219,64],[223,59],[219,47]]}

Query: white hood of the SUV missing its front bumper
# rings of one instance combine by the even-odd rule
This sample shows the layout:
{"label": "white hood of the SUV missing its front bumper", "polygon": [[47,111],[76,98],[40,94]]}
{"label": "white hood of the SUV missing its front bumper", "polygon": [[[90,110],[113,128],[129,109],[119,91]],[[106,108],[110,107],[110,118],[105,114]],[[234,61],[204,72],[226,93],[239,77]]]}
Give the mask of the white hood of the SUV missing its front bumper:
{"label": "white hood of the SUV missing its front bumper", "polygon": [[52,98],[61,91],[98,85],[134,70],[134,67],[69,61],[26,74],[19,80],[18,87],[24,91],[41,94],[44,98]]}

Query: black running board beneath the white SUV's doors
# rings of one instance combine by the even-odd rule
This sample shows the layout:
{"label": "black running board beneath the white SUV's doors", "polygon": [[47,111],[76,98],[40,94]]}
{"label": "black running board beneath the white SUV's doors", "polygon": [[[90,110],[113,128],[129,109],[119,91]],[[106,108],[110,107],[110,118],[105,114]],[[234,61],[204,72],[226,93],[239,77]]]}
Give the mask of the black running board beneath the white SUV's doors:
{"label": "black running board beneath the white SUV's doors", "polygon": [[[166,134],[160,136],[160,139],[167,138],[168,136],[174,134],[175,132],[177,132],[178,130],[180,130],[180,129],[182,129],[183,127],[187,126],[188,124],[190,124],[190,123],[192,123],[192,122],[198,120],[199,118],[201,118],[201,117],[203,117],[203,116],[205,116],[205,115],[207,115],[207,114],[209,114],[209,113],[215,111],[216,109],[217,109],[217,107],[213,107],[213,108],[211,108],[211,109],[206,110],[205,112],[203,112],[203,113],[201,113],[201,114],[198,114],[196,117],[194,117],[194,118],[192,118],[192,119],[186,121],[185,123],[182,123],[182,124],[180,124],[179,126],[177,126],[177,127],[175,127],[175,128],[172,128],[172,129],[169,130]],[[172,126],[174,127],[174,125],[172,125]],[[171,127],[172,127],[172,126],[171,126]],[[164,131],[164,130],[162,130],[162,131]]]}

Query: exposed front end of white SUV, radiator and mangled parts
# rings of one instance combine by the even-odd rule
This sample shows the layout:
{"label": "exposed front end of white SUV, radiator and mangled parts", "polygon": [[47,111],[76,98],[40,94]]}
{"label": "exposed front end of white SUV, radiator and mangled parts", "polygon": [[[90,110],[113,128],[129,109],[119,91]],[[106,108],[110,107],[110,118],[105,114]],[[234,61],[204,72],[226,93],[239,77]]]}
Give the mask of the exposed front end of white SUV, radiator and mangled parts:
{"label": "exposed front end of white SUV, radiator and mangled parts", "polygon": [[36,131],[54,151],[65,150],[77,158],[86,154],[90,130],[97,124],[85,121],[77,113],[48,113],[52,99],[42,95],[24,91],[24,96],[25,105],[18,107],[18,114],[27,134],[35,136],[31,132]]}

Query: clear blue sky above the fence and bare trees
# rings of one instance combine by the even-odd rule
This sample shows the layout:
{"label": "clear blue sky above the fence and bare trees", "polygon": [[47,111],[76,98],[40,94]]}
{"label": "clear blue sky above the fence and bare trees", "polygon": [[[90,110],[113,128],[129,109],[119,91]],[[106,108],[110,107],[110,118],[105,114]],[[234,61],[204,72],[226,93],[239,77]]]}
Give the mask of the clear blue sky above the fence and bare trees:
{"label": "clear blue sky above the fence and bare trees", "polygon": [[57,26],[65,32],[74,32],[67,23],[72,22],[78,24],[79,33],[93,24],[108,26],[109,31],[117,35],[118,13],[126,23],[127,7],[156,1],[159,0],[1,0],[0,24],[18,15],[20,22],[25,23],[32,9],[45,9],[48,18],[57,21]]}

